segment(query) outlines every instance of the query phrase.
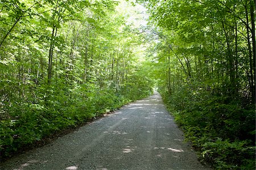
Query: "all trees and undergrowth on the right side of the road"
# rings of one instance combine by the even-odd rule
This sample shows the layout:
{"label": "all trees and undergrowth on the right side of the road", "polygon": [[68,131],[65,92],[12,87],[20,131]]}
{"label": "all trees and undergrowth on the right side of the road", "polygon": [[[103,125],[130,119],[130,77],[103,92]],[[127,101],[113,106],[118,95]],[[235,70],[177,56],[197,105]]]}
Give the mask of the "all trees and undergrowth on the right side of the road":
{"label": "all trees and undergrowth on the right side of the road", "polygon": [[255,169],[255,1],[143,1],[148,63],[202,161]]}

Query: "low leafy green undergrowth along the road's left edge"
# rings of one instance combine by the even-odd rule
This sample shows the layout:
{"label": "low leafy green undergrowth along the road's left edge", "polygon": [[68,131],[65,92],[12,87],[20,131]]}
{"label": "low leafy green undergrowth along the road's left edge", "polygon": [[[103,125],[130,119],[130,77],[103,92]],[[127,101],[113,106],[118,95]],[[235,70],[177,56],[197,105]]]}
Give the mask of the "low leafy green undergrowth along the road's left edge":
{"label": "low leafy green undergrowth along the road's left edge", "polygon": [[51,86],[36,91],[34,101],[15,100],[2,104],[6,116],[0,120],[1,159],[57,131],[76,127],[151,94],[150,88],[139,92],[88,90],[82,86],[65,86],[58,91],[54,89],[55,86]]}

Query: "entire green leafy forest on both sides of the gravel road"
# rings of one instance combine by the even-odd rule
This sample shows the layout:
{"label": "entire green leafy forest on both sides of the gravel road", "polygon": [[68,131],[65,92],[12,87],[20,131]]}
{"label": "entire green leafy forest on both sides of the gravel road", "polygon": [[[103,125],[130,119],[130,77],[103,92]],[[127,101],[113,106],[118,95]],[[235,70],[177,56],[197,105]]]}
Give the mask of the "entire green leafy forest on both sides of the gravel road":
{"label": "entire green leafy forest on both sides of the gravel road", "polygon": [[3,0],[1,159],[152,94],[214,169],[255,169],[255,0]]}

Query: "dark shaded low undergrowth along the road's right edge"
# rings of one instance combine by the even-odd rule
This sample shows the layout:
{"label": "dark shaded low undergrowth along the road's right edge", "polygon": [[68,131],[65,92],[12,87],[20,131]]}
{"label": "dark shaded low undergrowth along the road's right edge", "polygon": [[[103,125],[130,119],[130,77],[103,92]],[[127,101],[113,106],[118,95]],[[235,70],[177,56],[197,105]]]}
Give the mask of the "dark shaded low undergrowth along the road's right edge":
{"label": "dark shaded low undergrowth along the road's right edge", "polygon": [[161,94],[201,160],[215,169],[255,169],[254,105],[189,85]]}

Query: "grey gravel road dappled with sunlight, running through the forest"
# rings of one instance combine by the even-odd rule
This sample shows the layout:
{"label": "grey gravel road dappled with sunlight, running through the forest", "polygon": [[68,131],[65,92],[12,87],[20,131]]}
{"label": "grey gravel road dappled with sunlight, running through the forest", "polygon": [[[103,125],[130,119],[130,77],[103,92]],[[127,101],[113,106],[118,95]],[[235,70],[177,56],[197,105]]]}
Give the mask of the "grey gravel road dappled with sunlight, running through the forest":
{"label": "grey gravel road dappled with sunlight, running through the forest", "polygon": [[1,169],[209,169],[183,139],[155,92],[46,146],[15,156]]}

